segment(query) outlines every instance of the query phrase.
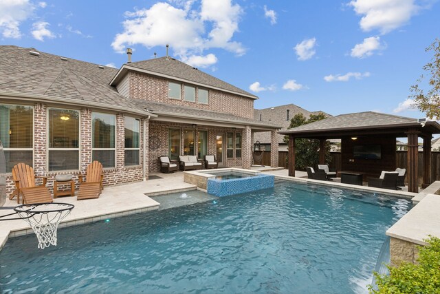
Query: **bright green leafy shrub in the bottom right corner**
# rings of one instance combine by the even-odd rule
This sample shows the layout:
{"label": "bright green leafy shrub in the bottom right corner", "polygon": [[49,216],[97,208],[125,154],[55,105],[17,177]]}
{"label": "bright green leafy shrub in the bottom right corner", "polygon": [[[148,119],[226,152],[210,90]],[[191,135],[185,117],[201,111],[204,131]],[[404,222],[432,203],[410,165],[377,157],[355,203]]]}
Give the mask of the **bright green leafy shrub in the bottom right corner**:
{"label": "bright green leafy shrub in the bottom right corner", "polygon": [[419,246],[419,264],[402,262],[397,267],[387,266],[390,275],[374,273],[377,290],[370,293],[440,293],[440,239],[428,238],[427,246]]}

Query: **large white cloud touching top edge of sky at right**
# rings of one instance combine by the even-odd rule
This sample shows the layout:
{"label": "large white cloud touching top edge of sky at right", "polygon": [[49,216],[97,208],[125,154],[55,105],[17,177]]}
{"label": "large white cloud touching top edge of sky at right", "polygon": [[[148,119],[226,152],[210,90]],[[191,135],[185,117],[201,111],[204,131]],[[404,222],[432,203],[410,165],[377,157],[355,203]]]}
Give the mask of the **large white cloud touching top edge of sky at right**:
{"label": "large white cloud touching top edge of sky at right", "polygon": [[349,3],[356,14],[363,15],[360,27],[365,32],[380,30],[386,34],[408,23],[421,6],[415,0],[353,0]]}

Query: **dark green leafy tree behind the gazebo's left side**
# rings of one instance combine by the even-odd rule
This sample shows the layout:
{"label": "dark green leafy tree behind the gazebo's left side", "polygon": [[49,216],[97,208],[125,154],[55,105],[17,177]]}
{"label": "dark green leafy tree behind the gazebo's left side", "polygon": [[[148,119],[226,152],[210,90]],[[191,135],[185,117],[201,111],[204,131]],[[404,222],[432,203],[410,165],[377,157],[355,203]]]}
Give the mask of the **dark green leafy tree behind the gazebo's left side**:
{"label": "dark green leafy tree behind the gazebo's left side", "polygon": [[[314,123],[315,121],[327,118],[325,114],[310,114],[309,119],[306,119],[303,114],[296,114],[290,120],[289,129],[292,127],[299,127],[307,123]],[[289,143],[289,136],[284,137],[285,143]],[[319,140],[296,138],[296,153],[295,153],[295,169],[305,170],[306,167],[316,167],[319,164]],[[331,161],[330,143],[325,143],[325,162]]]}

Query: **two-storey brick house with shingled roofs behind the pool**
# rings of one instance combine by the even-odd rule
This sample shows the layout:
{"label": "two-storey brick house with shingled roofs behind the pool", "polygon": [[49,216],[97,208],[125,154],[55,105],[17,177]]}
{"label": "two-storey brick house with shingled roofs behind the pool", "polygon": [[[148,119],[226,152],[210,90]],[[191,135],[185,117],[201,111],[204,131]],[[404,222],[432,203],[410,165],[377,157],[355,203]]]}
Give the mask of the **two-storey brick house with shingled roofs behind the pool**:
{"label": "two-storey brick house with shingled roofs behind the pool", "polygon": [[[117,70],[33,48],[0,46],[0,140],[6,170],[18,162],[37,175],[74,174],[92,160],[104,185],[148,180],[158,156],[217,156],[249,168],[258,98],[169,56]],[[276,144],[277,145],[277,144]],[[271,166],[278,165],[278,151]],[[11,175],[8,192],[12,191]]]}

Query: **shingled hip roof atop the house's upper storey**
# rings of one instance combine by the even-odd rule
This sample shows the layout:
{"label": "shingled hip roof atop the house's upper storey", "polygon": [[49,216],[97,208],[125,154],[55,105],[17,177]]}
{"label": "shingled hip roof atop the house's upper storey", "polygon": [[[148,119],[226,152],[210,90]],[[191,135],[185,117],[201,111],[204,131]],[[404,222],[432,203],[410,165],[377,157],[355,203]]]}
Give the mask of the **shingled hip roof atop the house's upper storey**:
{"label": "shingled hip roof atop the house's upper storey", "polygon": [[239,87],[235,87],[230,83],[221,81],[219,78],[206,74],[195,67],[187,65],[177,59],[171,57],[160,57],[157,59],[149,59],[146,61],[137,61],[132,63],[126,63],[122,66],[120,72],[111,81],[111,85],[118,81],[120,76],[125,74],[125,70],[144,70],[147,73],[151,72],[153,74],[161,74],[168,78],[175,78],[182,81],[187,81],[188,83],[195,83],[198,85],[204,85],[205,87],[214,87],[219,90],[225,90],[227,92],[233,92],[234,94],[239,94],[241,96],[246,96],[248,98],[258,99],[254,94],[250,94]]}

